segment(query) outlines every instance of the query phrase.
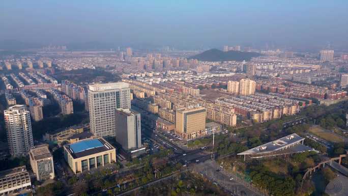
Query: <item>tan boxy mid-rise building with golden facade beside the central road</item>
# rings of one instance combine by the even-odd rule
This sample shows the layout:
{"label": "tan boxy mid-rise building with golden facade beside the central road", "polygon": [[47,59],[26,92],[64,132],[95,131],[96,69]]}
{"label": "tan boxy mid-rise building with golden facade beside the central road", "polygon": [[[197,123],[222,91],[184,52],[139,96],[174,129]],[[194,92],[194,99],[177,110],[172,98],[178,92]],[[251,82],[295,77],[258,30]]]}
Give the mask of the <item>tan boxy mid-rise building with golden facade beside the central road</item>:
{"label": "tan boxy mid-rise building with golden facade beside the central road", "polygon": [[184,139],[193,139],[204,135],[206,108],[197,106],[177,109],[175,129],[176,134]]}

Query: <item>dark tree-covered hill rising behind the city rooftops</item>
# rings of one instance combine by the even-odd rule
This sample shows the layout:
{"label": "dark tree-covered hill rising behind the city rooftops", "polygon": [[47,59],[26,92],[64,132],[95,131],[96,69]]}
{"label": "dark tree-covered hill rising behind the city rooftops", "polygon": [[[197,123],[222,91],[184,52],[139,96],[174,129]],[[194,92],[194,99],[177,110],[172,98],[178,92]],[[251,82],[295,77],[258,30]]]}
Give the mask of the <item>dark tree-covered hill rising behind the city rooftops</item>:
{"label": "dark tree-covered hill rising behind the city rooftops", "polygon": [[253,57],[259,57],[260,53],[257,52],[241,52],[230,50],[223,52],[218,49],[210,49],[200,54],[196,54],[189,59],[198,59],[199,61],[250,61]]}

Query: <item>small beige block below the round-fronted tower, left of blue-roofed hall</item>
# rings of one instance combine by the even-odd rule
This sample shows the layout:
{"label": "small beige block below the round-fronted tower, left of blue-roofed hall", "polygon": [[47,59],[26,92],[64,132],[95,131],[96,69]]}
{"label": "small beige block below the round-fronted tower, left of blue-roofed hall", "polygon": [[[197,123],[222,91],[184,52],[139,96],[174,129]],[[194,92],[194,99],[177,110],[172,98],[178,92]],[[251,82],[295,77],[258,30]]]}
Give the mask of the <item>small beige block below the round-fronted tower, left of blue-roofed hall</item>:
{"label": "small beige block below the round-fronted tower, left of blue-roofed hall", "polygon": [[48,144],[35,146],[29,153],[30,165],[37,180],[54,178],[53,156],[49,152]]}

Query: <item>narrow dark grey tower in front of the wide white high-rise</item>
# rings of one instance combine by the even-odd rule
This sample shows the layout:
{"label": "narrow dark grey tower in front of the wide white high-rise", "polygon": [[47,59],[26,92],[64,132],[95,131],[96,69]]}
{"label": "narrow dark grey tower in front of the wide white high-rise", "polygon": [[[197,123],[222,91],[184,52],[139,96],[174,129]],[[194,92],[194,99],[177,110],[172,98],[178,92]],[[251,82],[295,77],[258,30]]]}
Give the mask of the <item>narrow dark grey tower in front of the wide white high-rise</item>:
{"label": "narrow dark grey tower in front of the wide white high-rise", "polygon": [[116,109],[116,141],[126,151],[141,147],[140,113],[130,109]]}

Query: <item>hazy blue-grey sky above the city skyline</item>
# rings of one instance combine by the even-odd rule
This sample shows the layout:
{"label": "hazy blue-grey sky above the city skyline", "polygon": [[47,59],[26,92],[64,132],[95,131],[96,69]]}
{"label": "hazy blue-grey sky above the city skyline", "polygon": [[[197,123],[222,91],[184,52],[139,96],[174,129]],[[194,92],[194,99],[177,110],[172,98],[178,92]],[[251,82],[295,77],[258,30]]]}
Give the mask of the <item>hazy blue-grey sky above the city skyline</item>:
{"label": "hazy blue-grey sky above the city skyline", "polygon": [[347,0],[0,2],[0,40],[222,47],[346,45],[347,38]]}

